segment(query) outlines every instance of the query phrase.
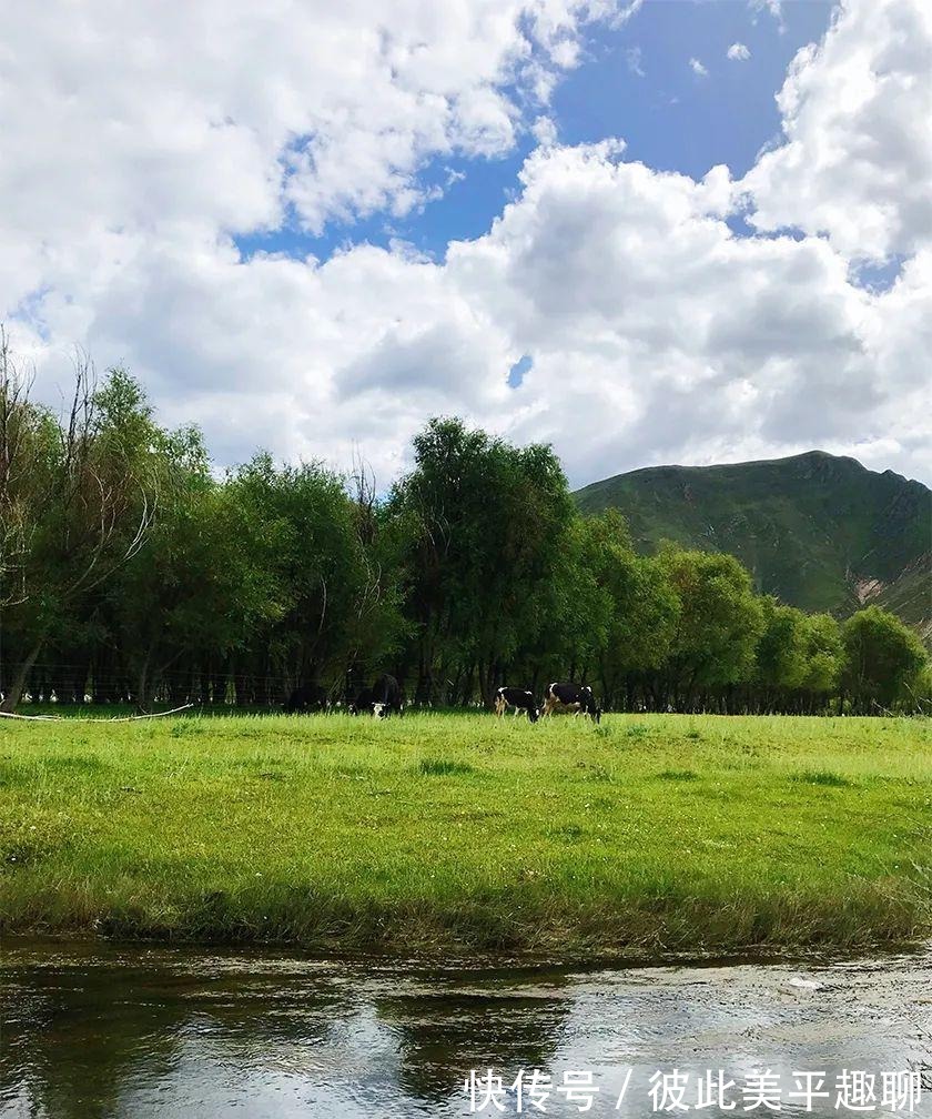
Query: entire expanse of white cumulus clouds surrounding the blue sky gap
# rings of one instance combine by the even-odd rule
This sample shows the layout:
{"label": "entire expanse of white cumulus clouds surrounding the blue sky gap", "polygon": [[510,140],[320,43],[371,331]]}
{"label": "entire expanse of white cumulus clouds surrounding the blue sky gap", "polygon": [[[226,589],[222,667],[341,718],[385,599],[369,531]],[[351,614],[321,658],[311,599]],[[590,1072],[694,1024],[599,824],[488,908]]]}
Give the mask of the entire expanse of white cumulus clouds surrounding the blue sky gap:
{"label": "entire expanse of white cumulus clouds surrounding the blue sky gap", "polygon": [[[156,7],[113,9],[113,41],[106,21],[78,34],[25,8],[29,34],[7,41],[31,51],[15,64],[23,92],[2,95],[0,307],[40,384],[78,341],[130,366],[166,422],[201,423],[222,462],[266,445],[346,464],[359,445],[380,482],[436,413],[550,440],[580,483],[813,445],[921,476],[932,246],[922,191],[905,189],[924,166],[919,124],[897,112],[923,104],[930,69],[909,0],[839,12],[780,95],[785,143],[737,182],[725,167],[702,180],[652,170],[616,140],[562,147],[534,107],[539,147],[517,194],[442,261],[402,243],[326,261],[239,253],[234,233],[285,211],[313,225],[414,205],[431,152],[507,148],[528,126],[521,98],[574,63],[580,21],[628,10],[507,7],[411,0],[390,40],[367,38],[368,4],[346,38],[357,9],[321,8],[318,41],[254,6],[237,23],[230,6],[201,3],[183,19],[209,13],[211,35],[186,25],[170,46],[151,37]],[[339,67],[323,58],[309,77],[307,59],[336,44]],[[832,102],[848,67],[855,85]],[[521,97],[507,75],[527,83]],[[736,205],[760,235],[733,232]],[[905,257],[887,290],[857,283],[858,226],[874,255]]]}

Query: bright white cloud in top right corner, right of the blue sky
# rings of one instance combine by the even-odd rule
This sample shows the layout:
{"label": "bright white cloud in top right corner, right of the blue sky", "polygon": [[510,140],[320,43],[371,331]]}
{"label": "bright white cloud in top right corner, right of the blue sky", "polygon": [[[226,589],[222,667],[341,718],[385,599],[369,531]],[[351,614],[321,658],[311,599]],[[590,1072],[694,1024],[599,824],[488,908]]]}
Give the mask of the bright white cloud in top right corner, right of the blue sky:
{"label": "bright white cloud in top right corner, right of the blue sky", "polygon": [[744,184],[757,228],[825,233],[874,261],[932,241],[932,4],[846,0],[778,103],[785,142]]}

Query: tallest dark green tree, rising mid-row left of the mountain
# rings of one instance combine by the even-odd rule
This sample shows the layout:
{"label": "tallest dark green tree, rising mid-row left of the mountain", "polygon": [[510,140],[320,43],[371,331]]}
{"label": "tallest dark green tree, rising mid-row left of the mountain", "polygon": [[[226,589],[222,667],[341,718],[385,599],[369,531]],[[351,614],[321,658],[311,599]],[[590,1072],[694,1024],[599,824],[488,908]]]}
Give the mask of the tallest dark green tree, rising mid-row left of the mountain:
{"label": "tallest dark green tree, rising mid-row left of the mountain", "polygon": [[476,674],[489,703],[556,609],[574,518],[559,462],[547,446],[515,448],[459,420],[432,420],[415,436],[414,469],[395,487],[392,509],[414,526],[418,693],[440,695],[450,679],[465,694]]}

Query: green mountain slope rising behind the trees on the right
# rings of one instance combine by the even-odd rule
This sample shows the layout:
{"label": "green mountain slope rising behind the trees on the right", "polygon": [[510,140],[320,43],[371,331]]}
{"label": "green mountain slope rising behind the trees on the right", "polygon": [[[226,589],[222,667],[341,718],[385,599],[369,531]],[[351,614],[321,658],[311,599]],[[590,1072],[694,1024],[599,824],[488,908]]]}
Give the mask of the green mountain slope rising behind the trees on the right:
{"label": "green mountain slope rising behind the trees on the right", "polygon": [[615,508],[634,546],[729,552],[756,589],[838,617],[877,602],[932,636],[932,490],[892,470],[809,451],[721,467],[649,467],[575,495]]}

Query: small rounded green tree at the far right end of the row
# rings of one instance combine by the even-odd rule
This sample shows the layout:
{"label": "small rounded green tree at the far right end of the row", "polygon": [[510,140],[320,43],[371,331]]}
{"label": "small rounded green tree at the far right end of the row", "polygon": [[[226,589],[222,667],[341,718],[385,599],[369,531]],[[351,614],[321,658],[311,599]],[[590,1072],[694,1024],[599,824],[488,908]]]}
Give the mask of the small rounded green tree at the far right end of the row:
{"label": "small rounded green tree at the far right end of the row", "polygon": [[926,653],[919,637],[895,614],[867,606],[845,622],[841,634],[844,686],[855,711],[892,708],[915,694]]}

